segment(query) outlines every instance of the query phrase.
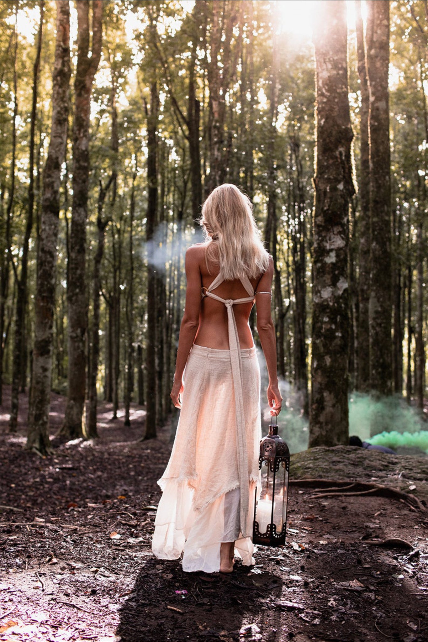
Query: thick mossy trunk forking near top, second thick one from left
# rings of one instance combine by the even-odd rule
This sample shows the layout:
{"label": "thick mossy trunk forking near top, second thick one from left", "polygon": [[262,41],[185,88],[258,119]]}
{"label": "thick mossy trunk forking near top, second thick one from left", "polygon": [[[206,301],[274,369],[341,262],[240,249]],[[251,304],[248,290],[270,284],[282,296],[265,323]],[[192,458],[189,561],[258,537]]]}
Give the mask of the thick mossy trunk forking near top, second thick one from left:
{"label": "thick mossy trunk forking near top, second thick one from left", "polygon": [[67,280],[69,369],[64,419],[64,433],[70,438],[83,437],[87,338],[85,263],[89,191],[89,116],[92,83],[101,57],[102,5],[101,0],[92,0],[92,51],[89,51],[89,0],[76,0],[78,53],[74,79],[73,205]]}

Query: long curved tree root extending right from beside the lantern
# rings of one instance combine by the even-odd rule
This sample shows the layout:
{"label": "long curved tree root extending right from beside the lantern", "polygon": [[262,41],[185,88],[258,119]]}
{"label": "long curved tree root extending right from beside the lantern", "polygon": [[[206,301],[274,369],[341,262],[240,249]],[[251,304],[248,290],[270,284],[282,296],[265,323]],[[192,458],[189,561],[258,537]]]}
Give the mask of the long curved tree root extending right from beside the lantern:
{"label": "long curved tree root extending right from beside the lantern", "polygon": [[[422,501],[415,495],[411,495],[402,490],[391,488],[389,486],[382,486],[377,483],[370,482],[344,482],[341,480],[323,480],[323,479],[301,479],[289,480],[291,486],[303,486],[313,488],[315,493],[314,497],[333,497],[335,495],[376,495],[379,497],[388,497],[391,499],[399,499],[409,504],[412,508],[416,507],[419,510],[425,511],[427,508]],[[321,492],[323,491],[323,492]]]}

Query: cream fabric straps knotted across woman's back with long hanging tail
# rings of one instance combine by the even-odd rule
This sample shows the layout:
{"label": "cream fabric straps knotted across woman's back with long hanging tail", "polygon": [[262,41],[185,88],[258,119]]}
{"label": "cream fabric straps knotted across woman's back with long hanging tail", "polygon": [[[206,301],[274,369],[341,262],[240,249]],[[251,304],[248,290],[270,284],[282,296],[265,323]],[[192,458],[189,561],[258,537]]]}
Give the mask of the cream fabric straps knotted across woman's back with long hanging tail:
{"label": "cream fabric straps knotted across woman's back with long hanging tail", "polygon": [[237,462],[238,462],[238,476],[239,476],[239,490],[241,492],[241,502],[239,508],[239,525],[241,533],[244,537],[249,537],[251,533],[247,531],[248,523],[248,505],[250,503],[250,492],[248,483],[248,452],[246,447],[246,429],[244,421],[244,399],[243,399],[243,385],[242,385],[242,360],[241,360],[241,347],[239,345],[239,336],[236,327],[236,320],[234,315],[233,306],[240,303],[252,303],[254,300],[253,286],[248,277],[242,277],[241,283],[245,290],[250,295],[243,299],[221,299],[212,292],[224,281],[221,274],[218,274],[214,281],[210,284],[209,288],[203,288],[202,296],[210,297],[225,304],[227,308],[228,320],[228,338],[229,338],[229,351],[230,363],[232,365],[232,378],[234,381],[235,393],[235,413],[236,413],[236,434],[237,434]]}

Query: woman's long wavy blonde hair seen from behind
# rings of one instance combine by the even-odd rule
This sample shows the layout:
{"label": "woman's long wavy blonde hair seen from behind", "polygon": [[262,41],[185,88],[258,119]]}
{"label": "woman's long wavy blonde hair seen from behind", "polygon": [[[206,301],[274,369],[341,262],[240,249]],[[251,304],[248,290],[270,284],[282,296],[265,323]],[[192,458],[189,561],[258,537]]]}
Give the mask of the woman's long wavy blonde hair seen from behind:
{"label": "woman's long wavy blonde hair seen from behind", "polygon": [[[207,257],[219,263],[226,281],[266,272],[269,254],[253,217],[248,196],[230,183],[214,189],[202,207],[200,224],[207,239]],[[217,250],[217,251],[216,251]]]}

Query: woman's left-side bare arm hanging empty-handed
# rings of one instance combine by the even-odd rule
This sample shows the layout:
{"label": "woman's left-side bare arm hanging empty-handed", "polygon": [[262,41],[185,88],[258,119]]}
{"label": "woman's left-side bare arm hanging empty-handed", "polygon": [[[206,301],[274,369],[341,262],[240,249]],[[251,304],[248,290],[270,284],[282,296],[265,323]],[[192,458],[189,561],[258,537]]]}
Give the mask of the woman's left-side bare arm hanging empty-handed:
{"label": "woman's left-side bare arm hanging empty-handed", "polygon": [[189,247],[185,254],[186,295],[185,308],[178,337],[178,351],[171,399],[176,408],[181,408],[178,395],[183,392],[183,373],[187,357],[198,331],[201,307],[201,273],[199,268],[200,248]]}

